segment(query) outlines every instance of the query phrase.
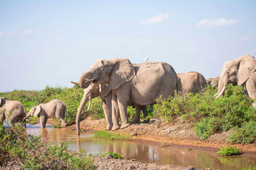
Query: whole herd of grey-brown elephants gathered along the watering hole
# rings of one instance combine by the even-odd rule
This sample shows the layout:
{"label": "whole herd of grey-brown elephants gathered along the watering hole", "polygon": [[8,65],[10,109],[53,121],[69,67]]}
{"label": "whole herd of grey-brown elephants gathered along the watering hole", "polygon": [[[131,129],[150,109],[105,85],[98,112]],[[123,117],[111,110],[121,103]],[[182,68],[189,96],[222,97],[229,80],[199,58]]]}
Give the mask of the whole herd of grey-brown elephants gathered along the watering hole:
{"label": "whole herd of grey-brown elephants gathered along the watering hole", "polygon": [[[218,85],[216,98],[223,96],[225,87],[229,83],[233,83],[233,86],[242,85],[244,94],[255,99],[255,70],[256,60],[249,54],[233,61],[225,62],[221,76],[207,80],[198,72],[176,73],[173,67],[165,62],[132,64],[128,59],[124,58],[99,59],[89,70],[82,73],[79,82],[71,81],[71,83],[79,84],[84,89],[84,95],[76,115],[77,135],[80,134],[79,122],[82,110],[86,103],[90,101],[89,110],[91,99],[95,97],[100,96],[102,99],[102,107],[107,122],[106,128],[108,130],[122,129],[131,125],[128,122],[127,106],[135,107],[135,117],[132,123],[139,123],[141,110],[145,119],[148,116],[147,105],[155,104],[156,99],[160,98],[160,96],[165,99],[174,97],[178,92],[202,93],[207,86],[207,82],[212,87]],[[4,105],[7,102],[3,98],[1,100],[3,102],[0,101],[0,111],[4,109]],[[256,102],[252,105],[256,108]],[[45,127],[47,118],[53,117],[60,119],[62,126],[67,125],[64,120],[66,105],[60,100],[55,99],[49,103],[35,106],[27,116],[25,109],[22,109],[20,109],[21,114],[17,119],[23,122],[30,116],[39,115],[41,128]],[[3,113],[5,112],[1,112],[0,121],[4,119]],[[118,123],[119,112],[122,125]],[[17,121],[7,116],[5,117],[9,121]],[[148,122],[149,119],[143,121],[143,123]]]}

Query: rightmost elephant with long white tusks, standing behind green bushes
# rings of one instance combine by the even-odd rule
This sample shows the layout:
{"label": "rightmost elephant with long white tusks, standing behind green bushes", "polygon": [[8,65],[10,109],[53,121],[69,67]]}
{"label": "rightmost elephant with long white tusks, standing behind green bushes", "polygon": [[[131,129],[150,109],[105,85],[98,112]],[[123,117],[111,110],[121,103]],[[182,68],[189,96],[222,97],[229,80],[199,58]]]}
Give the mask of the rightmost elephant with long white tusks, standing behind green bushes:
{"label": "rightmost elephant with long white tusks, standing behind green bushes", "polygon": [[[235,60],[224,63],[218,85],[218,95],[216,98],[223,96],[225,88],[229,83],[233,86],[242,85],[244,94],[252,99],[256,96],[256,60],[253,56],[247,54]],[[215,95],[215,96],[216,96]],[[256,108],[256,102],[253,107]]]}

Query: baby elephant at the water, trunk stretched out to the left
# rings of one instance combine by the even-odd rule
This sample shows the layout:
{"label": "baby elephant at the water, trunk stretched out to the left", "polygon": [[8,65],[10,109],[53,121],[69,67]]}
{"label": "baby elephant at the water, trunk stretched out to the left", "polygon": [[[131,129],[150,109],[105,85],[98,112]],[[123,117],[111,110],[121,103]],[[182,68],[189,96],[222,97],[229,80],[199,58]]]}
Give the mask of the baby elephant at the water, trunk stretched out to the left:
{"label": "baby elephant at the water, trunk stretched out to the left", "polygon": [[61,121],[61,126],[65,127],[67,122],[64,120],[65,111],[67,112],[67,107],[61,100],[53,99],[52,101],[38,106],[34,106],[30,109],[28,115],[23,118],[23,120],[29,117],[40,117],[41,128],[45,128],[45,124],[48,118],[57,118]]}

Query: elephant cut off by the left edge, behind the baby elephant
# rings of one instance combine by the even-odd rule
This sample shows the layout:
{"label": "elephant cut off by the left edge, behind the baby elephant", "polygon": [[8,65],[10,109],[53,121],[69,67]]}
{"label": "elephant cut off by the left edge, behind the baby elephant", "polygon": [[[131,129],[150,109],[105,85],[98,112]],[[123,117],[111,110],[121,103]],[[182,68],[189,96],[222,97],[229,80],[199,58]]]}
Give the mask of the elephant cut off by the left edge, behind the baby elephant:
{"label": "elephant cut off by the left edge, behind the baby elephant", "polygon": [[[4,111],[5,110],[5,111]],[[0,122],[3,123],[4,119],[8,120],[11,125],[21,122],[26,128],[26,110],[23,104],[19,101],[7,100],[5,97],[0,97]]]}

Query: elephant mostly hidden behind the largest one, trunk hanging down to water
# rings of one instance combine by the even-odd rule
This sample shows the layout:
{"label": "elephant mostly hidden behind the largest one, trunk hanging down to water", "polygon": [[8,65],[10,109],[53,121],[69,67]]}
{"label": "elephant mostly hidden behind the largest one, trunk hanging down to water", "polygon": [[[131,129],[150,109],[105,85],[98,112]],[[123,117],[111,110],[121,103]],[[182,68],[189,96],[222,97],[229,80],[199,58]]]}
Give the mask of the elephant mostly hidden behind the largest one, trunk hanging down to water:
{"label": "elephant mostly hidden behind the largest one, trunk hanging down to water", "polygon": [[[73,84],[79,84],[77,82],[73,82],[70,81]],[[101,89],[100,89],[101,87]],[[111,130],[113,127],[113,123],[112,123],[112,92],[111,90],[107,89],[108,85],[107,84],[102,84],[102,85],[98,85],[96,83],[91,83],[89,85],[88,88],[84,89],[84,95],[82,98],[82,101],[79,105],[78,111],[77,111],[77,117],[76,117],[76,124],[79,127],[79,122],[80,122],[80,117],[81,117],[81,113],[82,110],[85,106],[85,104],[88,102],[89,100],[89,106],[87,111],[89,111],[89,108],[91,106],[91,99],[100,96],[101,100],[102,100],[102,108],[105,114],[105,118],[106,118],[106,122],[107,122],[107,130]],[[147,112],[147,106],[140,106],[140,105],[136,105],[136,113],[135,113],[135,117],[132,123],[139,123],[139,119],[140,119],[140,111],[143,111],[143,117],[144,119],[148,116],[148,112]],[[117,108],[118,109],[118,108]],[[118,110],[119,112],[119,110]],[[118,119],[118,118],[117,118]],[[148,123],[149,119],[147,121],[143,121],[143,123]],[[79,135],[79,128],[77,128],[77,134]]]}

